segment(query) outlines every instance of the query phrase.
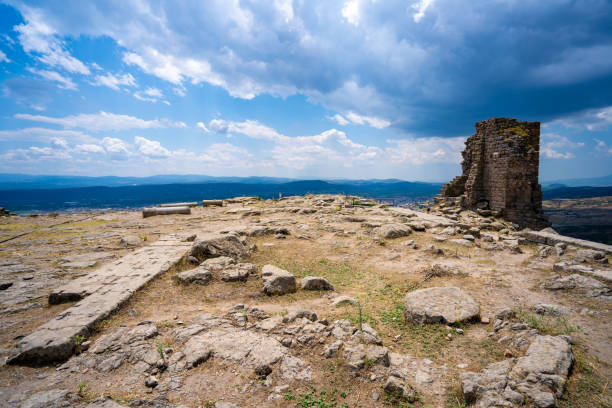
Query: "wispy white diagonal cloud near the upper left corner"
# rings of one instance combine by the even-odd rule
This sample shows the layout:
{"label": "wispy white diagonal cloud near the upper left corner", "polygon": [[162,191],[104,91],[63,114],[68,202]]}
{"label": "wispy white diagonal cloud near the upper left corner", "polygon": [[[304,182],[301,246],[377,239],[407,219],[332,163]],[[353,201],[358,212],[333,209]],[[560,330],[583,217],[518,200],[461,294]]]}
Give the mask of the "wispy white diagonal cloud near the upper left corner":
{"label": "wispy white diagonal cloud near the upper left corner", "polygon": [[56,31],[44,21],[38,9],[23,7],[21,12],[27,24],[19,24],[14,29],[19,33],[19,42],[25,52],[37,54],[38,60],[49,66],[76,74],[90,74],[89,68],[65,49]]}

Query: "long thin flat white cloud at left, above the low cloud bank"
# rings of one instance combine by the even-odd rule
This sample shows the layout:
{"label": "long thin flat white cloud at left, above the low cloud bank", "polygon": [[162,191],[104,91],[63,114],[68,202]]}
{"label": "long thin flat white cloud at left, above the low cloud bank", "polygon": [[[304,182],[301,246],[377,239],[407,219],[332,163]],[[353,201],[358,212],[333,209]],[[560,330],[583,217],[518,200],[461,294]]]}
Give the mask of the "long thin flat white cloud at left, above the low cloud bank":
{"label": "long thin flat white cloud at left, above the low cloud bank", "polygon": [[87,129],[92,132],[186,127],[183,122],[171,122],[168,119],[145,120],[134,116],[118,115],[104,111],[92,114],[81,113],[79,115],[66,116],[63,118],[18,113],[15,115],[15,118],[34,122],[51,123],[65,128]]}

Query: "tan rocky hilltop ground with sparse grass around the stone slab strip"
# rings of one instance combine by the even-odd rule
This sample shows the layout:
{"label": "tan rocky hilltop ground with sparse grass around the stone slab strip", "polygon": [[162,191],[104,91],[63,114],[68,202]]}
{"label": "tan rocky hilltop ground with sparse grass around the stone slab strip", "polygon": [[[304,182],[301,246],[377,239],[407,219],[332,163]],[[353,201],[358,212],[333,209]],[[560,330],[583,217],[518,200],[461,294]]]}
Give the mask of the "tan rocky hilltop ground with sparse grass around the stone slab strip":
{"label": "tan rocky hilltop ground with sparse grass around the stone slab strip", "polygon": [[[487,214],[369,204],[1,218],[0,406],[611,406],[609,254],[531,244]],[[184,256],[137,264],[163,273],[143,272],[72,357],[15,357],[101,296],[81,282],[127,276],[170,235]]]}

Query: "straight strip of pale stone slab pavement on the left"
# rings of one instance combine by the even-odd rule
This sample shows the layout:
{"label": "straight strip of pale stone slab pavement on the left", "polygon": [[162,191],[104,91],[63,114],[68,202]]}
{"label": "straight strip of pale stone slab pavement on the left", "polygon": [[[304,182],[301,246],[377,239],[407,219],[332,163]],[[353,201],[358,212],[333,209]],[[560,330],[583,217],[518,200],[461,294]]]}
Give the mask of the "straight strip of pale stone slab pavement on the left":
{"label": "straight strip of pale stone slab pavement on the left", "polygon": [[76,336],[89,336],[97,322],[180,261],[193,245],[185,242],[185,238],[183,235],[160,237],[153,244],[103,265],[52,293],[58,302],[82,300],[20,340],[7,363],[40,366],[68,359],[74,353]]}

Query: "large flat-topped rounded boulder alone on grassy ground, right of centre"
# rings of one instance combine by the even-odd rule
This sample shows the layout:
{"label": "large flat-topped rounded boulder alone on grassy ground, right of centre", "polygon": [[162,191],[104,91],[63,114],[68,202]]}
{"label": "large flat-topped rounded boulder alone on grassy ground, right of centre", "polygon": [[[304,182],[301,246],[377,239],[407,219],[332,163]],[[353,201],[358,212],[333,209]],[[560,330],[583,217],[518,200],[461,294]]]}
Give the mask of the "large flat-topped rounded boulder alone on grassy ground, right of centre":
{"label": "large flat-topped rounded boulder alone on grassy ground, right of centre", "polygon": [[477,318],[480,306],[465,292],[455,287],[415,290],[406,294],[404,317],[407,322],[459,323]]}

